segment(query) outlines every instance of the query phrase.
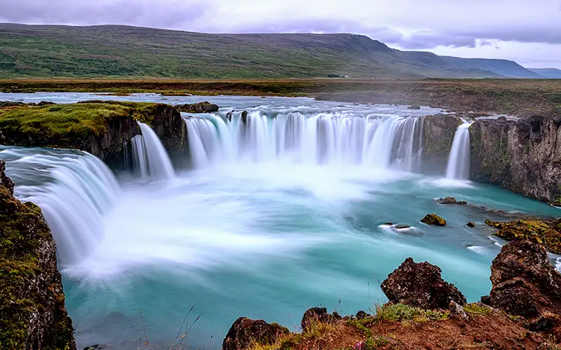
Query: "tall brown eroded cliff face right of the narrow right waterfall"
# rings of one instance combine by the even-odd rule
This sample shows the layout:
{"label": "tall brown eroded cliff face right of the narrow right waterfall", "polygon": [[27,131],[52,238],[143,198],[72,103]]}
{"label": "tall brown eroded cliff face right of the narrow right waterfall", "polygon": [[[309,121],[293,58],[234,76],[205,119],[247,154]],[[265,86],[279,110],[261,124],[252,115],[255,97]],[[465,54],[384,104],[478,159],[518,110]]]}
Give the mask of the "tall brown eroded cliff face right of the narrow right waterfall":
{"label": "tall brown eroded cliff face right of the narrow right waterfall", "polygon": [[471,179],[561,204],[561,121],[478,120],[470,127]]}

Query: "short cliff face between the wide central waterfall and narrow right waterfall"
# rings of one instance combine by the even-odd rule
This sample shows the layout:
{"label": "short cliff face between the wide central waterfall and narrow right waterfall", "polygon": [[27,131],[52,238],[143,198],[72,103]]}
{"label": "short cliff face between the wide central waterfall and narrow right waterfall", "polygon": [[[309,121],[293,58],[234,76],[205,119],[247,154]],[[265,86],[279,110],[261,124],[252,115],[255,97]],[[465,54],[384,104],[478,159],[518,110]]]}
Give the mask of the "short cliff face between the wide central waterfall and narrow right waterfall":
{"label": "short cliff face between the wide central waterfall and narrow right waterfall", "polygon": [[422,171],[442,175],[446,172],[454,134],[461,120],[448,114],[426,116],[423,124],[424,160]]}

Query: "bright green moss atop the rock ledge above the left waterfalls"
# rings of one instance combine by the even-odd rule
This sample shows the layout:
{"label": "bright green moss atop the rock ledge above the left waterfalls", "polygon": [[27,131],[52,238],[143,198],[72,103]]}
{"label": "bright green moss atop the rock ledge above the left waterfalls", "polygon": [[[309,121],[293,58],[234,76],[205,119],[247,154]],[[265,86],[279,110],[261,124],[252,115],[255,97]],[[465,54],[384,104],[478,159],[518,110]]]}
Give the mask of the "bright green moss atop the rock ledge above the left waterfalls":
{"label": "bright green moss atop the rock ledge above the left waterfalls", "polygon": [[119,118],[151,123],[161,104],[89,101],[0,110],[0,130],[10,144],[76,148]]}

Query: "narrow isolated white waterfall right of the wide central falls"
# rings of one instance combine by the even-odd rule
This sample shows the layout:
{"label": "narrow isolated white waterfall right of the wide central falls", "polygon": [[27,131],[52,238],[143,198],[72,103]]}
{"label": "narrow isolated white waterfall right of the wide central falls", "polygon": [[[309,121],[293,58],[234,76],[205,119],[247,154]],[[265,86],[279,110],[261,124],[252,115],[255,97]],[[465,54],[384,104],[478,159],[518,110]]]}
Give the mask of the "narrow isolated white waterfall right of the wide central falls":
{"label": "narrow isolated white waterfall right of the wide central falls", "polygon": [[462,119],[461,122],[456,134],[454,134],[454,141],[452,141],[446,179],[469,180],[469,127],[473,124],[473,121]]}

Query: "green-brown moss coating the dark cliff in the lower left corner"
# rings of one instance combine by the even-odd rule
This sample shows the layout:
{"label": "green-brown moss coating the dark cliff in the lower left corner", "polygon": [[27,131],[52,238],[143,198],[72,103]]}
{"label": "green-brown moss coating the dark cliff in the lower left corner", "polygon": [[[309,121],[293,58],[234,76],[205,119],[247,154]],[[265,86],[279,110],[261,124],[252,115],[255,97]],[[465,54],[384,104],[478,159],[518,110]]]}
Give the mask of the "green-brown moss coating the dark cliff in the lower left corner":
{"label": "green-brown moss coating the dark cliff in the lower left corner", "polygon": [[[24,349],[29,319],[44,307],[46,300],[29,283],[41,274],[41,241],[50,239],[39,207],[20,203],[0,186],[0,349]],[[39,291],[43,292],[49,293]],[[55,324],[46,332],[43,349],[69,347],[72,332],[72,321],[62,305],[55,311]]]}

